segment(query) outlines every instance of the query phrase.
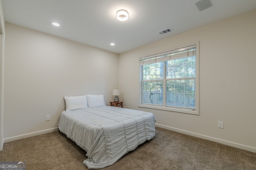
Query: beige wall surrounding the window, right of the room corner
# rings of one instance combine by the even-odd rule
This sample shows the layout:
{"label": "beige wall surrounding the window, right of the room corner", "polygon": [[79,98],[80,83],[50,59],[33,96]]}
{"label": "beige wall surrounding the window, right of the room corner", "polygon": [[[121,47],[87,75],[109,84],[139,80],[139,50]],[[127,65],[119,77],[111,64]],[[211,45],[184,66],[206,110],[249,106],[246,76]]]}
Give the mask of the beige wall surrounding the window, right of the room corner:
{"label": "beige wall surrounding the window, right of the room corner", "polygon": [[[256,152],[255,16],[256,10],[121,53],[120,100],[154,113],[160,127]],[[138,107],[139,58],[194,41],[200,42],[200,115]]]}

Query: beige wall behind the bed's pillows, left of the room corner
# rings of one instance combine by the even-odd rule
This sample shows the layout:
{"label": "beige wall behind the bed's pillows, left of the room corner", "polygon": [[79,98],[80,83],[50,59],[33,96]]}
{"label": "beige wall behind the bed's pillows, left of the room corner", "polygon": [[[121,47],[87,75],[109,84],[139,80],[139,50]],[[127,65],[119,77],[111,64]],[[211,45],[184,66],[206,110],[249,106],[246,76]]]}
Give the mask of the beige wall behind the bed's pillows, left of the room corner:
{"label": "beige wall behind the bed's pillows, left of the room corner", "polygon": [[64,96],[112,100],[118,54],[11,23],[5,30],[4,139],[57,127]]}

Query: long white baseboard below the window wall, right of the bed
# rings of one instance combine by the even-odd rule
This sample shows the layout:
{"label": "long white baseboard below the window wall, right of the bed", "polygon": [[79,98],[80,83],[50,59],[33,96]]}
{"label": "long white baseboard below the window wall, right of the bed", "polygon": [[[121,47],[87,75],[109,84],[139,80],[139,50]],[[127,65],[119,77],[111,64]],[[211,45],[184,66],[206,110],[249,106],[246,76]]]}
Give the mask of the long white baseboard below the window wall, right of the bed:
{"label": "long white baseboard below the window wall, right of the bed", "polygon": [[206,135],[202,135],[202,134],[199,134],[199,133],[185,131],[185,130],[182,130],[182,129],[169,127],[169,126],[161,125],[161,124],[158,124],[158,123],[156,123],[156,127],[161,127],[161,128],[168,129],[168,130],[171,130],[171,131],[183,133],[183,134],[190,135],[190,136],[193,136],[193,137],[198,137],[198,138],[201,138],[201,139],[206,139],[206,140],[209,140],[209,141],[214,141],[214,142],[217,142],[217,143],[228,145],[230,147],[236,147],[236,148],[239,148],[239,149],[244,149],[244,150],[248,150],[250,152],[255,152],[256,153],[256,147],[251,147],[251,146],[243,145],[243,144],[240,144],[240,143],[226,141],[226,140],[223,140],[223,139],[218,139],[218,138],[215,138],[215,137],[206,136]]}

